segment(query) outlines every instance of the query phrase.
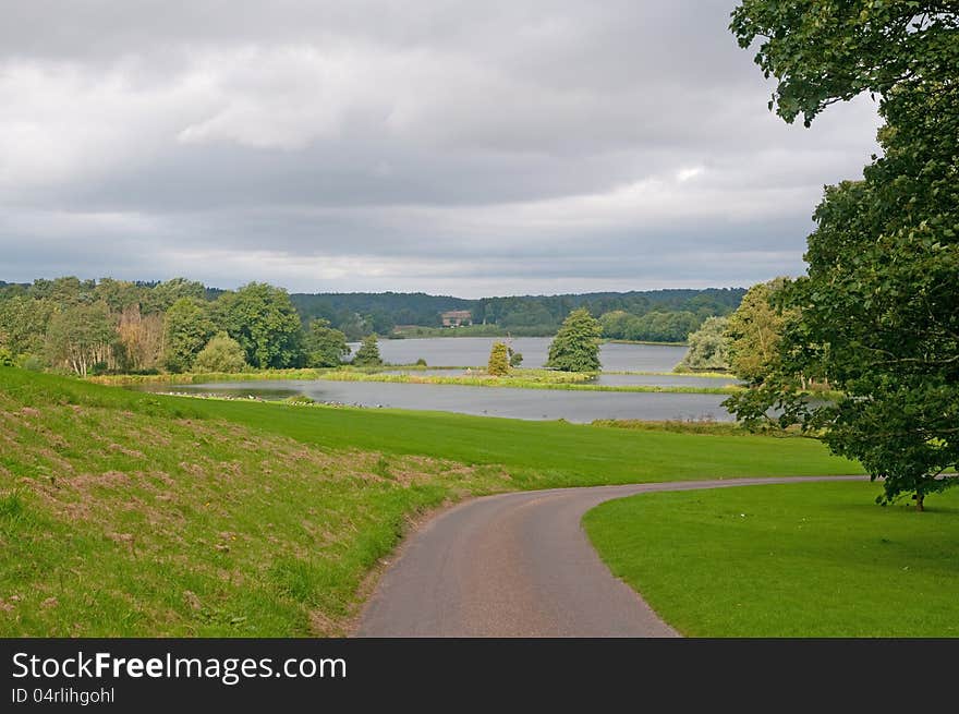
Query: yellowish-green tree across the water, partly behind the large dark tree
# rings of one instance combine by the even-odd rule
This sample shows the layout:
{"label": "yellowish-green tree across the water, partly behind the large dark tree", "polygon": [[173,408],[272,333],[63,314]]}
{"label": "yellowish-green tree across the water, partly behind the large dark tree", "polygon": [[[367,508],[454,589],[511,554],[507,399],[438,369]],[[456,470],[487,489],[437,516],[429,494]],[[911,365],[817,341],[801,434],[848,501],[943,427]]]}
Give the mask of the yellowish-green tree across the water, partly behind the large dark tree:
{"label": "yellowish-green tree across the water, partly behind the large dark tree", "polygon": [[796,308],[782,310],[774,298],[789,285],[776,278],[749,289],[727,322],[729,366],[740,379],[761,384],[779,364],[779,343],[786,326],[799,319]]}

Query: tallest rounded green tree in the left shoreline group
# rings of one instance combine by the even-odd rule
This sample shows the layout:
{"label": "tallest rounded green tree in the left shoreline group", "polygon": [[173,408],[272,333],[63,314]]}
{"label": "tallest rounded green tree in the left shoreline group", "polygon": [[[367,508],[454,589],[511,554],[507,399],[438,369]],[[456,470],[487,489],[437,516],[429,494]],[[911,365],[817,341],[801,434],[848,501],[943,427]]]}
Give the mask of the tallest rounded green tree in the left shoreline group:
{"label": "tallest rounded green tree in the left shoreline group", "polygon": [[303,362],[303,329],[290,295],[282,288],[251,282],[214,303],[218,327],[240,343],[254,367],[284,368]]}

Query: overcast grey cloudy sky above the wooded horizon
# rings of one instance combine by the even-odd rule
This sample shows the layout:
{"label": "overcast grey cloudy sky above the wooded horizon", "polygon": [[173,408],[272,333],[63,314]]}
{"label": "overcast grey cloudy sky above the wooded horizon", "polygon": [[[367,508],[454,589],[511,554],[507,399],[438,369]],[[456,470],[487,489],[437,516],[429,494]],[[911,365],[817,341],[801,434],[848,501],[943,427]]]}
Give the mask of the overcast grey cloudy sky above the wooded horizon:
{"label": "overcast grey cloudy sky above the wooded horizon", "polygon": [[803,271],[810,130],[735,0],[3,0],[0,279],[481,297]]}

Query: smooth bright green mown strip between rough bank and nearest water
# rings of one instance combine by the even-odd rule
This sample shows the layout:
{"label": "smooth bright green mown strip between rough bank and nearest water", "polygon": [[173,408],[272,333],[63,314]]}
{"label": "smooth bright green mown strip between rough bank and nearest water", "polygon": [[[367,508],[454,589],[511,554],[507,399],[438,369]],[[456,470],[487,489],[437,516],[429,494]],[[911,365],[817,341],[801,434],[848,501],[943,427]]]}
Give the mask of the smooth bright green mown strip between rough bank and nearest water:
{"label": "smooth bright green mown strip between rough bank and nearest water", "polygon": [[451,414],[201,401],[204,413],[306,444],[501,464],[518,487],[861,473],[811,439],[713,436]]}

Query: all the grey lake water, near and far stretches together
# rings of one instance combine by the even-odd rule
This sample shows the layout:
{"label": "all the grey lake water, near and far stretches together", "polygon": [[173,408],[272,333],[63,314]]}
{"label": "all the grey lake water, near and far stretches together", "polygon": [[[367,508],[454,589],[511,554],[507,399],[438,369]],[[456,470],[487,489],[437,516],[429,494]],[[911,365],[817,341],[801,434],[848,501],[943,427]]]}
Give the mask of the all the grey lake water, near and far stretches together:
{"label": "all the grey lake water, near and far stretches together", "polygon": [[[381,340],[379,352],[392,364],[412,364],[420,358],[430,366],[482,366],[498,338],[448,337]],[[524,367],[541,367],[549,351],[550,338],[521,337],[512,340],[523,353]],[[352,346],[354,349],[356,344]],[[669,372],[682,360],[684,347],[658,344],[604,343],[599,359],[604,371]],[[402,370],[391,372],[401,373]],[[462,374],[462,370],[426,370],[414,374]],[[602,373],[596,384],[720,387],[736,380],[682,375],[636,375]],[[597,419],[644,421],[732,421],[720,402],[725,395],[643,394],[615,391],[563,391],[513,389],[508,387],[466,387],[461,385],[390,384],[384,382],[270,380],[226,382],[183,386],[151,386],[154,391],[210,394],[226,397],[253,396],[280,400],[295,395],[326,403],[372,408],[448,411],[483,416],[527,420],[565,419],[588,423]]]}

